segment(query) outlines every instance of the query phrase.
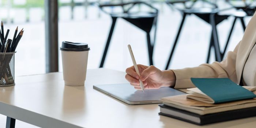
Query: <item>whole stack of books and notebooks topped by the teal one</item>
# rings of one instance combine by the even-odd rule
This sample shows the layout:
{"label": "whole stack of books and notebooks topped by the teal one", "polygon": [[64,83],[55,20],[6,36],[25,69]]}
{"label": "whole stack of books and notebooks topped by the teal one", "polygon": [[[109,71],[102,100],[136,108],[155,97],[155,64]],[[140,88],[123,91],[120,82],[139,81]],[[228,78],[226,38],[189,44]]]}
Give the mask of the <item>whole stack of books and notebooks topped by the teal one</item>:
{"label": "whole stack of books and notebooks topped by the teal one", "polygon": [[162,98],[160,115],[204,125],[256,116],[256,87],[228,78],[191,78],[188,94]]}

